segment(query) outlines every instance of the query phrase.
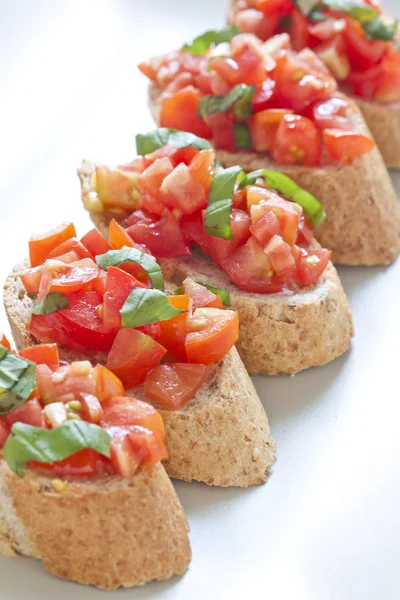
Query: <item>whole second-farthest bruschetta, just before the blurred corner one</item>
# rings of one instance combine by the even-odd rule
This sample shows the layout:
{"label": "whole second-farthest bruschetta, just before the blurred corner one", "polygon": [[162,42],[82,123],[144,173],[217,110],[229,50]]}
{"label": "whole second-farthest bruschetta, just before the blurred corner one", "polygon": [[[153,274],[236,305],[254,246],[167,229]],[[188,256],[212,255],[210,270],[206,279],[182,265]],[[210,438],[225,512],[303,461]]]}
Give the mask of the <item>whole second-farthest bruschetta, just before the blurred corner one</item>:
{"label": "whole second-farthest bruschetta, just before the blurred corner one", "polygon": [[400,205],[389,174],[360,110],[314,52],[295,53],[288,34],[262,43],[233,27],[140,69],[159,125],[212,139],[226,167],[273,168],[316,196],[327,213],[317,238],[333,262],[394,261]]}

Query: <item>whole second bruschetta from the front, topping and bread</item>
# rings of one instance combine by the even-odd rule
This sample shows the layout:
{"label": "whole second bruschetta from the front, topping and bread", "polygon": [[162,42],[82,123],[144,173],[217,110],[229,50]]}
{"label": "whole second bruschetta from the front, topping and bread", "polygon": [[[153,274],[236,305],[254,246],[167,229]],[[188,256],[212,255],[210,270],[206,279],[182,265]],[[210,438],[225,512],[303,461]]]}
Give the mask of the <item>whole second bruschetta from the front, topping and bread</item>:
{"label": "whole second bruschetta from the front, topping and bread", "polygon": [[32,238],[30,261],[4,289],[17,348],[50,339],[63,360],[106,365],[129,393],[153,402],[165,423],[169,475],[264,483],[275,444],[234,347],[236,312],[194,282],[190,295],[167,296],[143,247],[119,226],[110,240],[113,249],[97,230],[78,240],[71,224]]}

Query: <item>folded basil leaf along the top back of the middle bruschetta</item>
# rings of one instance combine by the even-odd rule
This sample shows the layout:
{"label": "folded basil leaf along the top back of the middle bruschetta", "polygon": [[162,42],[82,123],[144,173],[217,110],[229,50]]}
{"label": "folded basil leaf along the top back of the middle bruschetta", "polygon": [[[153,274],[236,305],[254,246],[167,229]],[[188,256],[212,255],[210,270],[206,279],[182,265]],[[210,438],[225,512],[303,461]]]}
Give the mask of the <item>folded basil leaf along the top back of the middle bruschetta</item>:
{"label": "folded basil leaf along the top back of the middle bruschetta", "polygon": [[198,150],[214,149],[210,142],[197,137],[197,135],[193,135],[193,133],[168,129],[167,127],[160,127],[149,133],[139,133],[136,136],[136,152],[141,156],[151,154],[166,145],[173,146],[174,148],[192,146]]}

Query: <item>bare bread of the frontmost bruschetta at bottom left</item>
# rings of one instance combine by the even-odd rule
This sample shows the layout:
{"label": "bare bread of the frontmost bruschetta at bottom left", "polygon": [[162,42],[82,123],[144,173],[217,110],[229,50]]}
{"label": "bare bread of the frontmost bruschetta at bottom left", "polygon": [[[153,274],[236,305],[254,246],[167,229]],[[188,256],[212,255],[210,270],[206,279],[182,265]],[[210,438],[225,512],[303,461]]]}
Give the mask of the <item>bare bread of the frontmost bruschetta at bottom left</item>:
{"label": "bare bread of the frontmost bruschetta at bottom left", "polygon": [[[58,483],[60,483],[58,481]],[[130,480],[63,482],[29,469],[23,478],[0,460],[0,552],[41,559],[57,577],[104,590],[183,573],[189,526],[163,466]]]}

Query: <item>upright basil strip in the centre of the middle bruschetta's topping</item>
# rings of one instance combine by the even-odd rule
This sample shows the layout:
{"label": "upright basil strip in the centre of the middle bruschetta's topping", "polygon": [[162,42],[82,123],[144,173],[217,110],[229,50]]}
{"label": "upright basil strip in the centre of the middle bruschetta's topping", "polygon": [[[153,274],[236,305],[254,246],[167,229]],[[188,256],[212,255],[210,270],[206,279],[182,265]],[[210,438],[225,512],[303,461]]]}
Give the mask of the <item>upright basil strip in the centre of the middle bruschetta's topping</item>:
{"label": "upright basil strip in the centre of the middle bruschetta's topping", "polygon": [[232,195],[238,180],[245,177],[240,167],[224,169],[214,176],[208,197],[208,207],[204,215],[204,225],[208,235],[224,240],[233,239],[231,229]]}

